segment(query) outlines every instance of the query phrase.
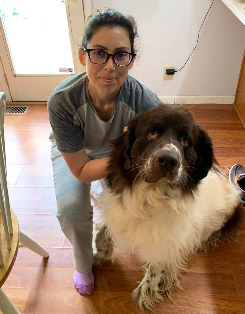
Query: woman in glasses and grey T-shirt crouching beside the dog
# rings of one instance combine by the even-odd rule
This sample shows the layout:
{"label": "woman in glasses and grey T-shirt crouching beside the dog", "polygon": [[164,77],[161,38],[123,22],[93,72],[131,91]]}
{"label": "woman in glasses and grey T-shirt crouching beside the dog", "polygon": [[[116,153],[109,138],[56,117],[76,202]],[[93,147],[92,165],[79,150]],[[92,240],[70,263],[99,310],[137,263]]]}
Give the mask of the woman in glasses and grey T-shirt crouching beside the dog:
{"label": "woman in glasses and grey T-shirt crouching beside the dog", "polygon": [[86,72],[65,79],[48,100],[56,216],[74,248],[74,284],[81,294],[94,289],[91,181],[108,175],[108,141],[131,117],[161,102],[128,75],[137,36],[132,17],[112,10],[92,14],[79,49]]}

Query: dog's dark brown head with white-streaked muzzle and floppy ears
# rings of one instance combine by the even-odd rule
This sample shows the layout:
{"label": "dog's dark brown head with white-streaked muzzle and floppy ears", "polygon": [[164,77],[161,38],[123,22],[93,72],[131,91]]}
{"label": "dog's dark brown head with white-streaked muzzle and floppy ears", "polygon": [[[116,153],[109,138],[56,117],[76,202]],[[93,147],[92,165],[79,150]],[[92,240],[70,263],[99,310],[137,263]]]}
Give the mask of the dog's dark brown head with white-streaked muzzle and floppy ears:
{"label": "dog's dark brown head with white-streaked muzzle and floppy ears", "polygon": [[118,180],[128,186],[140,180],[165,180],[190,190],[214,160],[210,137],[182,106],[159,105],[134,117],[113,144],[108,166],[111,187],[117,187]]}

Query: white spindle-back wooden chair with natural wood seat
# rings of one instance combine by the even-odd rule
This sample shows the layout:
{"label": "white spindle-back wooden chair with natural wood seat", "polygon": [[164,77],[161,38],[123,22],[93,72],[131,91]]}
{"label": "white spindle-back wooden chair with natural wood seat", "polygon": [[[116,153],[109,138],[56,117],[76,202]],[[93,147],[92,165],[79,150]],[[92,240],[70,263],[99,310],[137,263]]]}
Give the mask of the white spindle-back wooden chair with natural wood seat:
{"label": "white spindle-back wooden chair with natural wood seat", "polygon": [[1,289],[14,265],[19,246],[48,257],[49,253],[34,239],[19,229],[18,220],[9,204],[3,122],[6,96],[0,92],[0,310],[3,314],[20,314]]}

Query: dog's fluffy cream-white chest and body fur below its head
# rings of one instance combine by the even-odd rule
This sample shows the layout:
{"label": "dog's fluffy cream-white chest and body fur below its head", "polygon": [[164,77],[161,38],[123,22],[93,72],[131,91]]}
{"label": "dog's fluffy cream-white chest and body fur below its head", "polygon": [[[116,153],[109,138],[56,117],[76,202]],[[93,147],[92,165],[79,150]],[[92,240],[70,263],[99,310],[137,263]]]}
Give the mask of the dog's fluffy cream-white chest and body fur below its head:
{"label": "dog's fluffy cream-white chest and body fur below its head", "polygon": [[144,262],[181,264],[219,230],[239,200],[237,190],[221,174],[209,171],[194,196],[183,196],[164,181],[141,182],[122,195],[102,192],[103,218],[115,245]]}

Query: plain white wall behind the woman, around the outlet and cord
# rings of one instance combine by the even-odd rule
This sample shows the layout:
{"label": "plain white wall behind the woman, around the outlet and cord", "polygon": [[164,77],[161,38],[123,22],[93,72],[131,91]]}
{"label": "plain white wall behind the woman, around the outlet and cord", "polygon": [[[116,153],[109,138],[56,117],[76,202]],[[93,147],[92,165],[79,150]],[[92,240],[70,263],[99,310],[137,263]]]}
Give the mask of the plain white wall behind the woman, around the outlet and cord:
{"label": "plain white wall behind the woman, around the outlet and cord", "polygon": [[164,66],[178,70],[190,56],[210,4],[211,0],[92,0],[93,8],[106,6],[136,19],[141,52],[130,75],[157,95],[235,95],[245,26],[221,0],[214,0],[185,67],[172,81],[162,80]]}

